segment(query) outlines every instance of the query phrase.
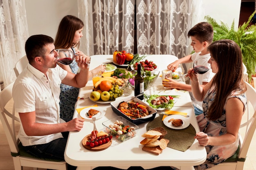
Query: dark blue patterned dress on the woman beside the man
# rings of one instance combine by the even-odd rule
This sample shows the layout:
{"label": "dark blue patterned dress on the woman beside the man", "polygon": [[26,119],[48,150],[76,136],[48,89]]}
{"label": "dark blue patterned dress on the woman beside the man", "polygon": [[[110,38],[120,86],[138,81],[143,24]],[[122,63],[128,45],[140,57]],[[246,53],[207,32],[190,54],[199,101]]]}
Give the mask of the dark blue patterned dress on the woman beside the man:
{"label": "dark blue patterned dress on the woman beside the man", "polygon": [[[76,53],[74,48],[73,52]],[[75,60],[69,65],[72,73],[77,73],[78,65]],[[70,121],[73,119],[75,104],[78,97],[79,88],[61,84],[61,94],[60,94],[60,117],[61,119]]]}

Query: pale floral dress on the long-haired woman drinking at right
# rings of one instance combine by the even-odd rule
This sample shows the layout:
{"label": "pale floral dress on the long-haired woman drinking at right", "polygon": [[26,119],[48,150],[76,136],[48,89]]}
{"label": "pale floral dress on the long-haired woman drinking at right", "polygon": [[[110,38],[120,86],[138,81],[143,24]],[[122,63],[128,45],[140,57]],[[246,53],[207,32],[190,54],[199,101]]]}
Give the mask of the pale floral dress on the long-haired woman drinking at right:
{"label": "pale floral dress on the long-haired woman drinking at right", "polygon": [[[210,121],[206,117],[208,115],[208,107],[211,105],[211,102],[216,96],[215,88],[214,89],[213,88],[211,88],[207,92],[207,95],[204,97],[204,101],[202,104],[204,114],[198,115],[197,120],[198,120],[200,131],[207,133],[208,136],[220,136],[227,133],[225,110],[223,111],[222,116],[215,121]],[[245,106],[244,108],[246,108],[247,99],[246,99],[245,93],[238,95],[239,93],[240,91],[233,91],[227,97],[227,99],[231,97],[237,97],[238,99],[241,100],[241,102],[243,102]],[[224,106],[224,109],[225,109],[225,106]],[[238,142],[239,142],[239,137],[236,139],[236,141],[233,144],[224,145],[224,146],[210,146],[210,145],[206,146],[205,148],[207,151],[207,159],[201,165],[195,166],[195,170],[204,170],[207,168],[211,168],[225,161],[227,158],[234,155],[234,153],[238,148]]]}

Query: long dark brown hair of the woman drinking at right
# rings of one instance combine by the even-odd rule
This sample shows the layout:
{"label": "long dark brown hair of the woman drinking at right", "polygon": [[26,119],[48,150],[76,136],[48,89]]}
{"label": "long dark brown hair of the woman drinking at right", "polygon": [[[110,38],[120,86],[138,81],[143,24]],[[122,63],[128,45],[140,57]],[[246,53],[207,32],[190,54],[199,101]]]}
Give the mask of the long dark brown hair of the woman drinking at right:
{"label": "long dark brown hair of the woman drinking at right", "polygon": [[213,77],[216,96],[208,111],[208,118],[216,120],[221,117],[227,97],[232,91],[246,91],[243,81],[243,59],[240,47],[232,40],[215,41],[207,49],[218,64],[218,73]]}

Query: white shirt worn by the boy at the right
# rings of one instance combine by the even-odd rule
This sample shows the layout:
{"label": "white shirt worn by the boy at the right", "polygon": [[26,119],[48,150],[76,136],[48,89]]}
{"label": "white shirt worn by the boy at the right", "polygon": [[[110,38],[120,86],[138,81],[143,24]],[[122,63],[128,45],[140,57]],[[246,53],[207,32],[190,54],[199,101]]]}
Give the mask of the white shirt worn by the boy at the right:
{"label": "white shirt worn by the boy at the right", "polygon": [[[207,63],[208,60],[211,58],[210,53],[205,54],[205,55],[200,55],[200,54],[201,54],[201,52],[199,52],[199,53],[193,53],[193,54],[191,55],[191,60],[193,60],[193,62],[194,62],[194,61],[197,60],[198,58],[205,57],[205,62]],[[202,64],[202,65],[203,65],[203,64]],[[210,68],[209,71],[207,71],[207,72],[204,73],[204,74],[198,74],[199,84],[202,84],[202,82],[210,82],[214,75],[215,75],[215,73],[213,73],[213,72],[211,71],[211,68]],[[191,84],[191,82],[190,82],[190,84]],[[203,110],[203,108],[202,108],[202,102],[198,102],[198,101],[195,99],[195,97],[193,96],[192,92],[189,92],[189,95],[190,95],[190,97],[191,97],[192,104],[193,104],[195,107],[199,108],[200,110]]]}

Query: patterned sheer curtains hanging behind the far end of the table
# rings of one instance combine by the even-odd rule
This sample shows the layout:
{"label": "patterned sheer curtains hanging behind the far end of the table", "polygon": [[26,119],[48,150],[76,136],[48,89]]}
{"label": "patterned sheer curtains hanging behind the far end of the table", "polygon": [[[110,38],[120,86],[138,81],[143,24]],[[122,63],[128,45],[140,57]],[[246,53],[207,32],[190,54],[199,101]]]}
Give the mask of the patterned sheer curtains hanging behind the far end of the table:
{"label": "patterned sheer curtains hanging behind the far end of the table", "polygon": [[[187,33],[201,22],[201,0],[78,0],[79,18],[85,22],[83,51],[90,55],[113,51],[139,54],[191,53]],[[136,7],[136,8],[135,8]],[[136,13],[136,14],[135,14]],[[137,41],[134,41],[136,26]],[[90,53],[89,53],[90,51]]]}

